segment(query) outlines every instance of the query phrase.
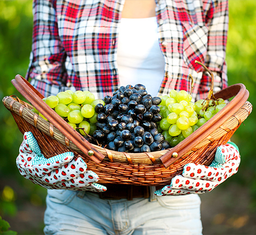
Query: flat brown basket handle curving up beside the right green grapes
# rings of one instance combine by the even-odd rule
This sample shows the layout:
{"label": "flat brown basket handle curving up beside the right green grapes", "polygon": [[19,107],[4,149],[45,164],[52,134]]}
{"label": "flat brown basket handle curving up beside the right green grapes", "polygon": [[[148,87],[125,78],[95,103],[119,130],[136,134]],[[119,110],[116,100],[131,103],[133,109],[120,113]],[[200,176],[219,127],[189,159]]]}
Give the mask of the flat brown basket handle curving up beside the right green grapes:
{"label": "flat brown basket handle curving up beside the right green grapes", "polygon": [[[210,135],[213,130],[216,130],[220,125],[222,125],[232,114],[237,112],[247,101],[249,91],[246,89],[245,85],[239,83],[215,93],[214,97],[216,99],[223,98],[224,100],[231,97],[234,98],[218,112],[218,115],[214,115],[204,125],[193,132],[190,135],[190,138],[185,138],[178,145],[171,148],[165,155],[160,157],[160,160],[166,168],[192,150],[194,146],[199,144],[204,138]],[[173,155],[173,153],[177,154]]]}

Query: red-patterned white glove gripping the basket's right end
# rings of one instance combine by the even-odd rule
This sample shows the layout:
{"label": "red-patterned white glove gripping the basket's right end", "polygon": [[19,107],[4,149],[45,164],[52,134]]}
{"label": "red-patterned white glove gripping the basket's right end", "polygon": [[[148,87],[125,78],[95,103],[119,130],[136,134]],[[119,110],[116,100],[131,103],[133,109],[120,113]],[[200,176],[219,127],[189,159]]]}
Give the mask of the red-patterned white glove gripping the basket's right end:
{"label": "red-patterned white glove gripping the basket's right end", "polygon": [[188,163],[182,175],[176,175],[171,184],[155,191],[157,196],[201,194],[212,191],[238,171],[240,155],[238,147],[228,142],[217,148],[212,164],[207,167],[201,164]]}

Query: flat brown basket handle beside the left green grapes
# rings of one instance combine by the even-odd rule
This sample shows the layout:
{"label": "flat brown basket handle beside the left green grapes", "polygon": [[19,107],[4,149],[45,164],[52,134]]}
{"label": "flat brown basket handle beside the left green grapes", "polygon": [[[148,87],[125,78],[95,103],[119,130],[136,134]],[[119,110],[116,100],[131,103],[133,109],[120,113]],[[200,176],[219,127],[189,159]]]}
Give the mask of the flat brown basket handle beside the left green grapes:
{"label": "flat brown basket handle beside the left green grapes", "polygon": [[[65,122],[57,115],[45,102],[42,100],[43,95],[37,91],[24,77],[16,75],[15,79],[11,80],[14,87],[27,99],[34,108],[42,113],[60,132],[68,136],[68,138],[84,152],[92,161],[99,163],[103,160],[104,155],[94,148],[82,135],[80,135],[73,127]],[[88,151],[92,150],[94,154],[90,156]]]}

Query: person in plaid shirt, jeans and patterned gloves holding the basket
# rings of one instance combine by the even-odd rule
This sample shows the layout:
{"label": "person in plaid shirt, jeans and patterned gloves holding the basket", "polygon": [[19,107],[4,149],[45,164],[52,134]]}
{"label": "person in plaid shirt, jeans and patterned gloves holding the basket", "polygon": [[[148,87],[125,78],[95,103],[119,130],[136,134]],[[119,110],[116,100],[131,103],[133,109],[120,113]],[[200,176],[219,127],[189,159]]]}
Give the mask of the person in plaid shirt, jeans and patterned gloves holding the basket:
{"label": "person in plaid shirt, jeans and patterned gloves holding the basket", "polygon": [[[162,96],[188,90],[191,74],[195,101],[211,84],[196,60],[213,71],[214,92],[227,87],[227,0],[34,0],[33,16],[26,79],[44,97],[89,90],[102,99],[127,84]],[[48,189],[45,234],[201,234],[198,194],[239,163],[229,143],[210,167],[189,163],[169,185],[149,187],[97,184],[98,175],[73,152],[44,158],[31,132],[17,157],[20,173]]]}

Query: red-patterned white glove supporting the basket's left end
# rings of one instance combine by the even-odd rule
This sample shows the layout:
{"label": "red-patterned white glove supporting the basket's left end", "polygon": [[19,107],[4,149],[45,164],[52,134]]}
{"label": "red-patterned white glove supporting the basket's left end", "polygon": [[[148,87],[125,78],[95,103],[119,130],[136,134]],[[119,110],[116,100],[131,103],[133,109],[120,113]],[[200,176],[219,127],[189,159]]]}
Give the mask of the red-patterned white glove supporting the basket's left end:
{"label": "red-patterned white glove supporting the basket's left end", "polygon": [[46,159],[31,132],[24,133],[16,163],[23,177],[46,189],[107,190],[105,186],[95,183],[99,180],[98,175],[86,170],[87,165],[81,157],[74,159],[73,152]]}

